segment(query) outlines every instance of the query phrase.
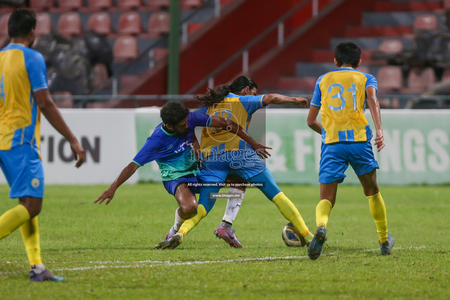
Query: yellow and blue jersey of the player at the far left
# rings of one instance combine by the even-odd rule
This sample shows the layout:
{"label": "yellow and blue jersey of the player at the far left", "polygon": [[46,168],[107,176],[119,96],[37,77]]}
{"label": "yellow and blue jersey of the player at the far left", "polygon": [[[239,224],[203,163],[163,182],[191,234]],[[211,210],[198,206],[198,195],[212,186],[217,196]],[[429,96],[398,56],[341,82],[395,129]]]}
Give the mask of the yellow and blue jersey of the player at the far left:
{"label": "yellow and blue jersey of the player at the far left", "polygon": [[45,60],[36,50],[9,44],[0,51],[0,150],[39,149],[40,111],[33,93],[47,89]]}

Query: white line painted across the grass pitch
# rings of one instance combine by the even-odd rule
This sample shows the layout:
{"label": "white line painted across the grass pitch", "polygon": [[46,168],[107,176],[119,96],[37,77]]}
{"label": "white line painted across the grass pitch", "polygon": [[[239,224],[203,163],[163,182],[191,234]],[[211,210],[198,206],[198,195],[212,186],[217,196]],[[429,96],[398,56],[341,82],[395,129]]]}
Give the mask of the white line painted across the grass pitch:
{"label": "white line painted across the grass pitch", "polygon": [[[402,246],[395,247],[396,250],[410,250],[410,249],[424,249],[428,248],[429,246],[409,246],[406,248],[403,248]],[[371,251],[379,251],[380,249],[366,249],[364,251],[355,251],[355,252],[371,252]],[[328,254],[322,254],[321,256],[327,256],[327,255],[334,255],[337,252],[329,252]],[[194,261],[182,261],[182,262],[175,262],[170,260],[139,260],[133,262],[133,264],[129,265],[105,265],[105,264],[117,264],[117,263],[124,263],[124,261],[96,261],[90,263],[94,264],[102,264],[102,265],[94,265],[94,266],[85,266],[85,267],[76,267],[76,268],[60,268],[60,269],[53,269],[53,271],[87,271],[87,270],[95,270],[95,269],[128,269],[128,268],[151,268],[151,267],[157,267],[157,266],[179,266],[179,265],[194,265],[194,264],[216,264],[216,263],[241,263],[241,262],[247,262],[247,261],[266,261],[266,260],[290,260],[290,259],[300,259],[300,258],[307,258],[307,255],[290,255],[290,256],[268,256],[268,257],[259,257],[259,258],[245,258],[241,260],[194,260]],[[8,262],[10,263],[10,262]],[[24,271],[10,271],[10,272],[0,272],[0,275],[6,275],[6,274],[20,274],[20,273],[27,273]]]}

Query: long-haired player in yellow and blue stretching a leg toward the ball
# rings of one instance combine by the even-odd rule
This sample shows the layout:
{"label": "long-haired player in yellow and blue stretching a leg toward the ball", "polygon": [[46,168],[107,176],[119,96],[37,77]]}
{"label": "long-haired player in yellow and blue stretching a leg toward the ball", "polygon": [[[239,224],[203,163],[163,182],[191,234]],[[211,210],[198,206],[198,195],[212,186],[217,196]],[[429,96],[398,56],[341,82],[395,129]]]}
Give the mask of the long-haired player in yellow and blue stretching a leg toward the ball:
{"label": "long-haired player in yellow and blue stretching a leg toward the ball", "polygon": [[[280,94],[257,96],[256,94],[256,83],[247,76],[240,76],[231,85],[208,89],[207,94],[198,96],[198,99],[206,103],[208,115],[225,116],[246,130],[252,114],[262,107],[284,103],[303,104],[306,107],[308,103],[308,100],[302,97],[288,97]],[[202,170],[198,175],[200,180],[223,183],[227,176],[238,175],[250,183],[263,183],[264,187],[261,187],[260,190],[300,231],[302,246],[311,242],[313,235],[306,226],[302,215],[279,189],[266,163],[255,153],[256,149],[249,147],[245,141],[230,135],[229,132],[206,127],[202,131],[200,147],[204,157]],[[174,249],[180,245],[184,236],[212,209],[216,199],[211,198],[210,194],[217,193],[219,189],[218,187],[201,188],[197,214],[185,220],[178,233],[169,240],[158,244],[157,248]],[[224,239],[227,240],[226,237]],[[231,245],[233,241],[227,242]]]}

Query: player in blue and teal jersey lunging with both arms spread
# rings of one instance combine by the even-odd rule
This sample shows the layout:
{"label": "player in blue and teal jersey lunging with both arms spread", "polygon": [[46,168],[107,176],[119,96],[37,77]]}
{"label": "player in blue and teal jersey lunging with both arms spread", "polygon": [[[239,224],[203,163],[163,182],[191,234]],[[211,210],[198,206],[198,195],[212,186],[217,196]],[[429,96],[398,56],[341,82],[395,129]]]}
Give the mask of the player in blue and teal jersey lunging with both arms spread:
{"label": "player in blue and teal jersey lunging with both arms spread", "polygon": [[[175,224],[169,230],[166,239],[175,234],[185,219],[197,211],[196,189],[189,184],[198,183],[197,157],[193,152],[193,136],[195,127],[222,128],[236,134],[252,147],[258,149],[260,155],[267,157],[265,149],[271,149],[254,141],[247,131],[230,119],[209,116],[197,112],[189,112],[181,103],[166,103],[161,108],[162,123],[157,125],[152,135],[136,154],[114,183],[104,191],[94,203],[106,204],[112,200],[117,188],[135,171],[150,161],[156,161],[161,170],[161,178],[167,192],[173,195],[179,204],[175,211]],[[165,239],[165,240],[166,240]]]}

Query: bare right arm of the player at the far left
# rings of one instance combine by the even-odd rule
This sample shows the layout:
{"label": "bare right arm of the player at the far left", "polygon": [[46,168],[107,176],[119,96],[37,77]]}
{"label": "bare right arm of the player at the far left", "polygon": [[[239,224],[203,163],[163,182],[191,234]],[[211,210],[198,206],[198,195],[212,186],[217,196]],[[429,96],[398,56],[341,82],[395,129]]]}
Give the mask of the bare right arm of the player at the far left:
{"label": "bare right arm of the player at the far left", "polygon": [[75,135],[72,134],[72,131],[69,129],[66,122],[64,122],[63,116],[61,116],[61,113],[53,102],[49,90],[45,89],[37,91],[36,93],[33,93],[33,96],[34,99],[36,99],[40,111],[44,114],[49,123],[69,141],[70,148],[76,159],[75,166],[79,168],[86,160],[85,151],[76,140]]}

